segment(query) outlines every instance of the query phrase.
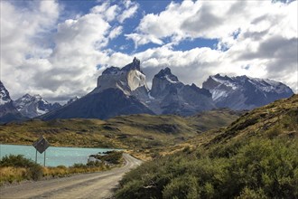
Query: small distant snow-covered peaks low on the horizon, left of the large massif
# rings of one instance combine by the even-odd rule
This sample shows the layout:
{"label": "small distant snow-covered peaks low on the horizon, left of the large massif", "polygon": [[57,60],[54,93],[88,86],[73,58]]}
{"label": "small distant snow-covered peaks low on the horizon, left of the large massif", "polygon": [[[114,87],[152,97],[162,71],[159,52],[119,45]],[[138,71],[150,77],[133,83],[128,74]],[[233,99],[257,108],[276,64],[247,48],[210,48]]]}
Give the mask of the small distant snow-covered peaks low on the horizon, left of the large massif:
{"label": "small distant snow-covered peaks low on the horizon, left of the large massif", "polygon": [[19,110],[23,116],[35,118],[41,116],[53,109],[61,107],[59,103],[51,104],[43,100],[40,95],[25,94],[22,98],[14,101],[14,107]]}

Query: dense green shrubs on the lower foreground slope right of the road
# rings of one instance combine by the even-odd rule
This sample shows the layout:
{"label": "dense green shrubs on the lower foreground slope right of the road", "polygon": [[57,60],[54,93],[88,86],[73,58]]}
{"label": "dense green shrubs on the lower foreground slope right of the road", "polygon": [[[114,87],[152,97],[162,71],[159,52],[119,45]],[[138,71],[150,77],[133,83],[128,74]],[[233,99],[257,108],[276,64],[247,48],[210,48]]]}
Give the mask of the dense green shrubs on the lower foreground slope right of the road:
{"label": "dense green shrubs on the lower foreground slope right of the road", "polygon": [[251,138],[146,162],[116,198],[297,198],[298,140]]}

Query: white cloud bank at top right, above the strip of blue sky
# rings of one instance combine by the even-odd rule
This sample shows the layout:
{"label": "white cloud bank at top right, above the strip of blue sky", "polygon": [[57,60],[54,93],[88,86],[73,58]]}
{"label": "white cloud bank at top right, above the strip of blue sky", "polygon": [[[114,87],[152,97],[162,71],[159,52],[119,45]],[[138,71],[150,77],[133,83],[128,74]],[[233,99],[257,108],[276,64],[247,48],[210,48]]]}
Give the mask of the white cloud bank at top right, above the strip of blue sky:
{"label": "white cloud bank at top right, above the strip of blue sky", "polygon": [[[180,38],[225,39],[237,29],[261,32],[271,29],[293,36],[297,30],[297,3],[290,5],[272,4],[270,1],[188,1],[171,3],[160,14],[145,14],[136,28],[134,36],[127,34],[138,45],[145,44],[138,37],[163,40]],[[264,9],[266,7],[266,9]],[[259,20],[261,23],[255,22]],[[277,24],[276,24],[277,20]],[[272,25],[278,28],[271,28]],[[137,37],[138,36],[138,37]],[[150,39],[147,43],[154,43]],[[177,41],[179,42],[179,40]]]}

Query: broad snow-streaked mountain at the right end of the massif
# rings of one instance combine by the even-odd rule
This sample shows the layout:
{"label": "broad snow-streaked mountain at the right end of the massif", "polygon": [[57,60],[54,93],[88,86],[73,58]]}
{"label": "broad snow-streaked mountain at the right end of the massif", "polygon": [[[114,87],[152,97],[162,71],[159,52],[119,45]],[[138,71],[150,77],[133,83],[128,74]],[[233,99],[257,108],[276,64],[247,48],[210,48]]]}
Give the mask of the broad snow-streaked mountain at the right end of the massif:
{"label": "broad snow-streaked mountain at the right end of the massif", "polygon": [[210,90],[217,107],[230,109],[254,109],[293,95],[293,90],[281,82],[247,76],[217,74],[204,81],[203,88]]}

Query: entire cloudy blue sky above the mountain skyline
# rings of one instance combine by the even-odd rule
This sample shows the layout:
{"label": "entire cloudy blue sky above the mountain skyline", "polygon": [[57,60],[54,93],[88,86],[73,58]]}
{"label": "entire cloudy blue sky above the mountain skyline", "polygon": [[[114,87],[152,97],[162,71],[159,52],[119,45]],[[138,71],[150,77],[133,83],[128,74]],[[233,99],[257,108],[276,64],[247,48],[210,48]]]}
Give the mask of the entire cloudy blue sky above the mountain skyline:
{"label": "entire cloudy blue sky above the mountain skyline", "polygon": [[1,1],[0,77],[14,100],[83,96],[135,56],[149,87],[170,67],[186,84],[222,73],[297,92],[297,1]]}

